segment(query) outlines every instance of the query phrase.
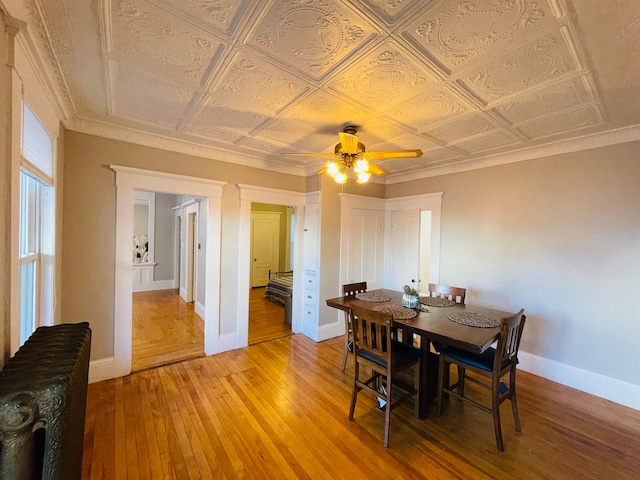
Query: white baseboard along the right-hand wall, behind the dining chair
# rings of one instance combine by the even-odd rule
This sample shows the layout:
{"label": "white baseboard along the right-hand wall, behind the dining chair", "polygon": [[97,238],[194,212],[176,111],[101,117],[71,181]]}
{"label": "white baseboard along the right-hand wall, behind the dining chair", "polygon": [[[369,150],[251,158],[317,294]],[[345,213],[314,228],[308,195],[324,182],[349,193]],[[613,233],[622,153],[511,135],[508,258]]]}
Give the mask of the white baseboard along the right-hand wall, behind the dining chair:
{"label": "white baseboard along the right-hand wall, behind the dining chair", "polygon": [[640,386],[520,351],[518,368],[626,407],[640,410]]}

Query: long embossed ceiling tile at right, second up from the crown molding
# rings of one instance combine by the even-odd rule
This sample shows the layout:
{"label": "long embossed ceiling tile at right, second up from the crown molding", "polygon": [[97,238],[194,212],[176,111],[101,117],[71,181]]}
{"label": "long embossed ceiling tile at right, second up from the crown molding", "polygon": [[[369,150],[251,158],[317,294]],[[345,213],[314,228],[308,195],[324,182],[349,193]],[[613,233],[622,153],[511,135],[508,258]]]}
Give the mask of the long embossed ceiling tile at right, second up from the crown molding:
{"label": "long embossed ceiling tile at right, second up from the crown molding", "polygon": [[591,101],[593,96],[583,79],[573,78],[510,100],[495,107],[495,110],[509,121],[520,123]]}

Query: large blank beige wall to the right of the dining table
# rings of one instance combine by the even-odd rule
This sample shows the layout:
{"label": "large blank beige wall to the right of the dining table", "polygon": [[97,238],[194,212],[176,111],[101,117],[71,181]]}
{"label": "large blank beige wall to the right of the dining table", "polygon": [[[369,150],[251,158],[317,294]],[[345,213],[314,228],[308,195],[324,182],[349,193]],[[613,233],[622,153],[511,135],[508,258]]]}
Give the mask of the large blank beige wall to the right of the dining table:
{"label": "large blank beige wall to the right of the dining table", "polygon": [[638,151],[444,175],[389,185],[387,196],[444,192],[440,282],[466,287],[469,303],[524,307],[522,350],[640,385]]}

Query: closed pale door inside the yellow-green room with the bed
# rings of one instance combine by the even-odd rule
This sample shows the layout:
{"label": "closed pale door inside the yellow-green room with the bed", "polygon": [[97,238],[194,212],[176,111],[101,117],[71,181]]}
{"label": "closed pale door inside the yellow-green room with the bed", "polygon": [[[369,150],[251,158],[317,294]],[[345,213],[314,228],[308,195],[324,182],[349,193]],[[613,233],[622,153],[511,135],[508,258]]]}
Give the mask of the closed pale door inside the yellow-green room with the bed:
{"label": "closed pale door inside the yellow-green room with the bed", "polygon": [[280,263],[280,214],[251,213],[251,286],[264,287]]}

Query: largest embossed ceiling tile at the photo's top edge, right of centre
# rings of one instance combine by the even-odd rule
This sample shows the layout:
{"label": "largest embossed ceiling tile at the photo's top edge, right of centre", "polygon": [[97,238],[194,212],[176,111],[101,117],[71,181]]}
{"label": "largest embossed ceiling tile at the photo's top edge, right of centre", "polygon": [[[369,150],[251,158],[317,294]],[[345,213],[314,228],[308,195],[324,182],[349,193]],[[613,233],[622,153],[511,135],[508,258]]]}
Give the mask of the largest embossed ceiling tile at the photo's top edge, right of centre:
{"label": "largest embossed ceiling tile at the photo's top edge, right of centre", "polygon": [[512,42],[557,28],[547,2],[539,0],[443,0],[407,25],[402,37],[446,72]]}

